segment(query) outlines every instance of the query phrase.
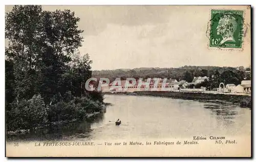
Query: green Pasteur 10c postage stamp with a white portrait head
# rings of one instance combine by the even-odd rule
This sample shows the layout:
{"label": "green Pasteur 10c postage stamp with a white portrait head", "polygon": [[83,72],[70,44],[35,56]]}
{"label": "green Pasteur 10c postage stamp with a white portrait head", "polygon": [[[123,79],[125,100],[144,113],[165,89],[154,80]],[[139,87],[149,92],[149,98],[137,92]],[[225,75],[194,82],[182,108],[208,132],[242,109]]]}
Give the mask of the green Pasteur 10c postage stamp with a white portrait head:
{"label": "green Pasteur 10c postage stamp with a white portrait head", "polygon": [[211,10],[210,47],[242,48],[243,11]]}

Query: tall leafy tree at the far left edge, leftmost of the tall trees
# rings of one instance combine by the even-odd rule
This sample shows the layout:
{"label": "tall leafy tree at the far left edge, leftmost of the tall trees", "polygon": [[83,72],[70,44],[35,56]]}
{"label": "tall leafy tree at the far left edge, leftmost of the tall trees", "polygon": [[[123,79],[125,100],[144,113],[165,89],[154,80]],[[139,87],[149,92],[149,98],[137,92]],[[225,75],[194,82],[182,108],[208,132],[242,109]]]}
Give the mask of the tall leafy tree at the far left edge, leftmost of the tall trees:
{"label": "tall leafy tree at the far left edge, leftmost of the tall trees", "polygon": [[41,13],[40,6],[15,6],[6,13],[6,59],[13,61],[13,89],[17,101],[18,98],[31,98],[36,91],[38,48],[35,46],[42,32]]}

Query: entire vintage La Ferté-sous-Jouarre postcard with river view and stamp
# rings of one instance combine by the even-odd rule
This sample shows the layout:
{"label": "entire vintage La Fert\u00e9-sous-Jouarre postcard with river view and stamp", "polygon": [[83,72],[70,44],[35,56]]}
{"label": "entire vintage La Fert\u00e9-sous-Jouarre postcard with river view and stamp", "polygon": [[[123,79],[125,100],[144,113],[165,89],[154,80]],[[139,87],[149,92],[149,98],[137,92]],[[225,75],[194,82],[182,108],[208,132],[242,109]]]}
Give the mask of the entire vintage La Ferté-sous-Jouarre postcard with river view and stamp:
{"label": "entire vintage La Fert\u00e9-sous-Jouarre postcard with river view and stamp", "polygon": [[6,6],[7,157],[251,157],[251,6]]}

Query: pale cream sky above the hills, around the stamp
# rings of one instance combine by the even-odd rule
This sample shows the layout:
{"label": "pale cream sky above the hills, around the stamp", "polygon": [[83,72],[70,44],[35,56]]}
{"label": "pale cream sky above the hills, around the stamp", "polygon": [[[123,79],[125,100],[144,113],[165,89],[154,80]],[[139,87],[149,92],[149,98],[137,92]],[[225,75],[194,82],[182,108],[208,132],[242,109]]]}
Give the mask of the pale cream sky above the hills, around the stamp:
{"label": "pale cream sky above the hills, around the stamp", "polygon": [[[89,53],[92,70],[193,66],[249,66],[250,33],[243,51],[211,49],[206,37],[212,6],[42,6],[70,9],[84,30],[80,53]],[[218,6],[218,8],[224,8]],[[227,6],[230,9],[230,7]],[[245,10],[246,6],[232,7]],[[248,30],[250,32],[250,30]],[[237,50],[237,49],[235,49]]]}

